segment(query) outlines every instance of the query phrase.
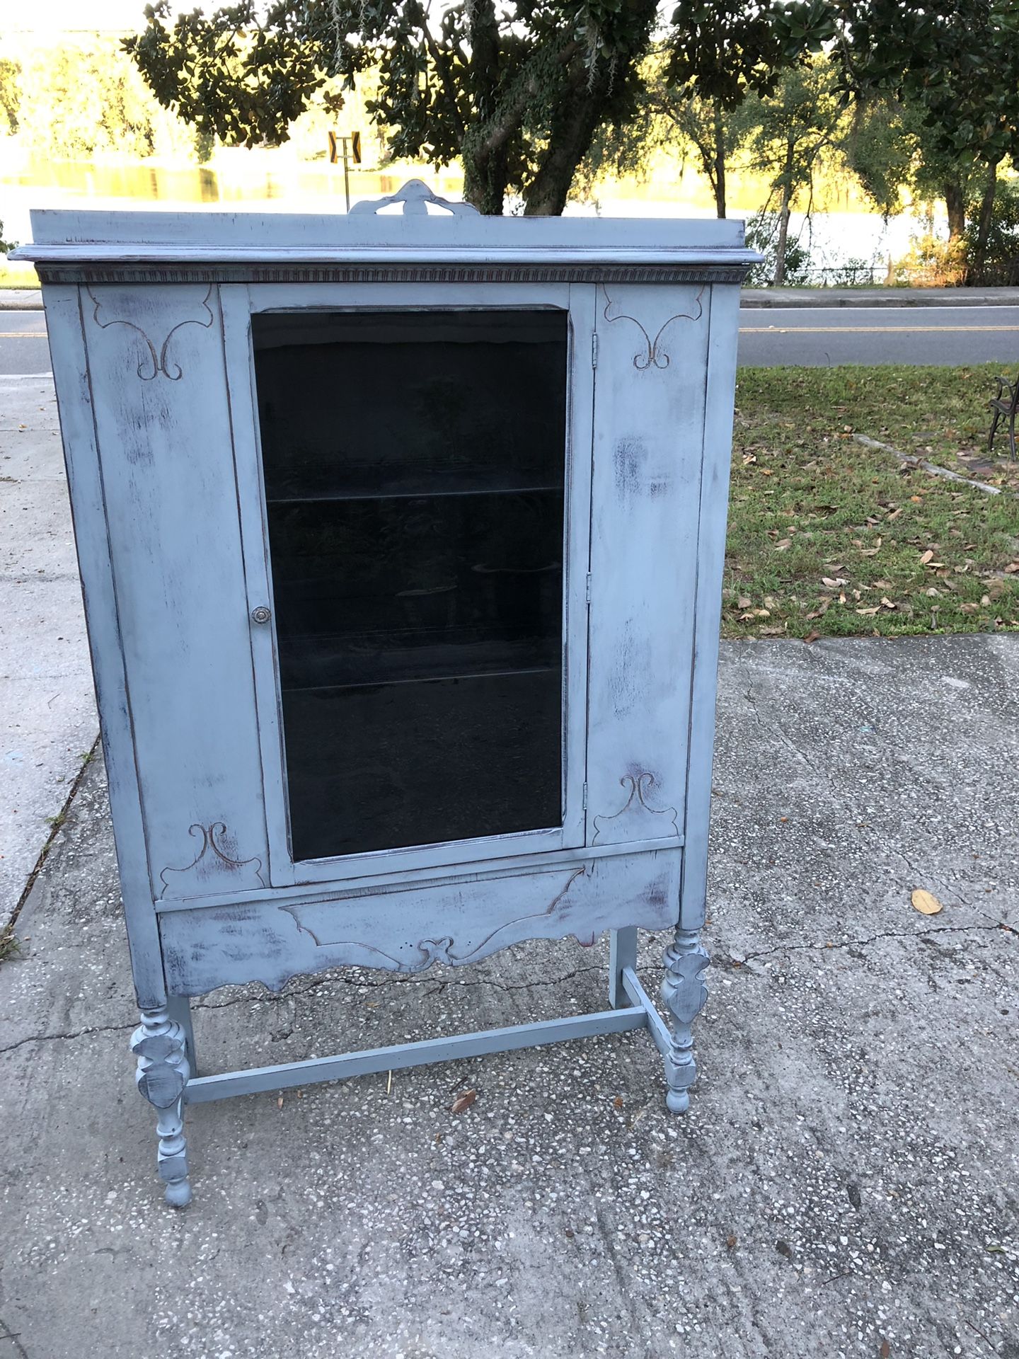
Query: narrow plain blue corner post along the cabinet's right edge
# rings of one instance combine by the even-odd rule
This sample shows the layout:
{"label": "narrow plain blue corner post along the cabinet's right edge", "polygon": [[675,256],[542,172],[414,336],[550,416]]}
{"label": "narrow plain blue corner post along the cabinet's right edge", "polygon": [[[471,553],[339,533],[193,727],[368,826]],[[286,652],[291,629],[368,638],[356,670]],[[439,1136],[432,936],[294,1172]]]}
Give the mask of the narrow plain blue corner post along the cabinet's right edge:
{"label": "narrow plain blue corner post along the cabinet's right edge", "polygon": [[697,607],[694,616],[693,696],[681,927],[704,924],[708,885],[711,769],[715,749],[715,697],[721,625],[721,578],[732,465],[732,401],[739,340],[739,288],[716,285],[711,299],[708,400],[704,423],[704,476],[698,526]]}

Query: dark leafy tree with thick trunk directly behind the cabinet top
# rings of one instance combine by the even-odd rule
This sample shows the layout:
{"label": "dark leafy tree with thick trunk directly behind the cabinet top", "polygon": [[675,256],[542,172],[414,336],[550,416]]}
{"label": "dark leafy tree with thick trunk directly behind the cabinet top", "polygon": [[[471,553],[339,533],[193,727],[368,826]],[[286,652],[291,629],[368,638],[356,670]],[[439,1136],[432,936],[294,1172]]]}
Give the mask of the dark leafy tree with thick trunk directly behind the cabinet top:
{"label": "dark leafy tree with thick trunk directly behind the cabinet top", "polygon": [[557,213],[605,118],[621,118],[656,20],[655,0],[253,0],[170,22],[145,10],[125,43],[156,98],[226,144],[276,144],[323,86],[375,71],[370,114],[394,159],[463,160],[465,196],[501,212]]}

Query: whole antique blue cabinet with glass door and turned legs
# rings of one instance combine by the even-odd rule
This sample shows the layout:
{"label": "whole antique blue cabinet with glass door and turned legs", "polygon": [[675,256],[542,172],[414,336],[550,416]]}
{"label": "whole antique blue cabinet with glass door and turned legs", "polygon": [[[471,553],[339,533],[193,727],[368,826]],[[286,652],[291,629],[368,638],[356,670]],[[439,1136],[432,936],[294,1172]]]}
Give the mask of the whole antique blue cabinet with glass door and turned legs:
{"label": "whole antique blue cabinet with glass door and turned legs", "polygon": [[[167,1200],[230,1094],[647,1027],[685,1109],[742,224],[33,231]],[[602,1012],[200,1074],[215,987],[603,931]]]}

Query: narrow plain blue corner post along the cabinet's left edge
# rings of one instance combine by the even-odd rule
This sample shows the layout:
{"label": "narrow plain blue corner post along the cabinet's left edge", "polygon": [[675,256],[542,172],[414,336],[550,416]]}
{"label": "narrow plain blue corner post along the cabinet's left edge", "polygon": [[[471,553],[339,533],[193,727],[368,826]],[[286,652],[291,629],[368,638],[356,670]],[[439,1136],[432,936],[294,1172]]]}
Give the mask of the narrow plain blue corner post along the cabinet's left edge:
{"label": "narrow plain blue corner post along the cabinet's left edge", "polygon": [[151,1010],[164,1000],[163,961],[145,863],[141,805],[132,749],[79,289],[48,285],[42,289],[42,298],[46,307],[46,330],[92,655],[92,678],[99,707],[130,964],[139,1007]]}

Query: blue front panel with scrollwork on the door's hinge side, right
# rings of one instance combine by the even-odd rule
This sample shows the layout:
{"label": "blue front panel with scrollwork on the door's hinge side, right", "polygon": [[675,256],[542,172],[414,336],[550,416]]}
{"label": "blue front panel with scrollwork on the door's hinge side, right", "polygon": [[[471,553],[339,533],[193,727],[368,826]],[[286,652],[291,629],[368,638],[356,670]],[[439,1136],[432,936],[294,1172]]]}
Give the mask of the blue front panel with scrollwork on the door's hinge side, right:
{"label": "blue front panel with scrollwork on the door's hinge side, right", "polygon": [[683,825],[711,288],[598,288],[588,844]]}

